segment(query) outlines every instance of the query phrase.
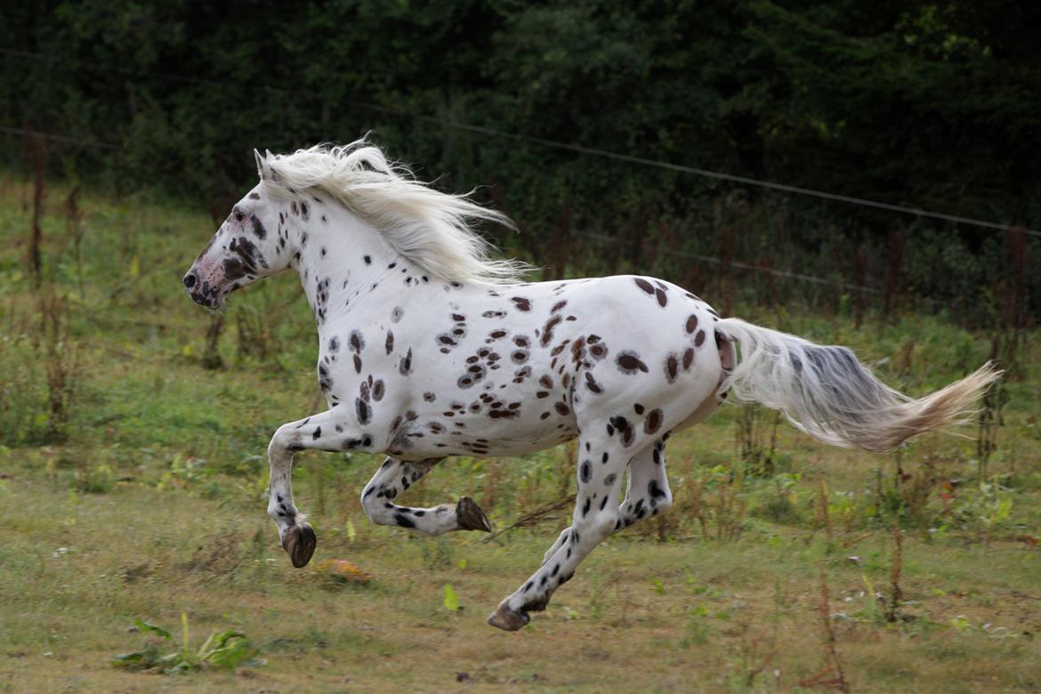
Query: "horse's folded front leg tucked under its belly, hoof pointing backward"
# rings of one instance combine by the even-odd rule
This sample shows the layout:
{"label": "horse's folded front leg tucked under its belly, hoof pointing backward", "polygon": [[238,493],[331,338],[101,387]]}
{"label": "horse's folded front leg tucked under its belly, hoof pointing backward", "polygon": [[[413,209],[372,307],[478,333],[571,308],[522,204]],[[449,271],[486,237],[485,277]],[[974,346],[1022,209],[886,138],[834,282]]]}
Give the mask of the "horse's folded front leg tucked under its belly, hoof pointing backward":
{"label": "horse's folded front leg tucked under its belly, hoof pointing backward", "polygon": [[448,504],[429,509],[397,506],[390,500],[420,481],[441,458],[401,461],[387,458],[361,492],[361,507],[370,520],[380,525],[398,525],[425,535],[450,531],[491,532],[487,516],[474,499],[463,496],[454,507]]}

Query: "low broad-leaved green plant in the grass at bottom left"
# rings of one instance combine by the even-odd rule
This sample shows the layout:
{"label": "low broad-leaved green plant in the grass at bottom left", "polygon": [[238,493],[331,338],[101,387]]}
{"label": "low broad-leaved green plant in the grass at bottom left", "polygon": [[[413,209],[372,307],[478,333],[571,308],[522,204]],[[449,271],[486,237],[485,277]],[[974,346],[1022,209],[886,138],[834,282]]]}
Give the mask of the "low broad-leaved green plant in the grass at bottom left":
{"label": "low broad-leaved green plant in the grass at bottom left", "polygon": [[181,613],[181,644],[178,650],[162,652],[163,644],[173,641],[170,632],[156,624],[150,624],[139,617],[133,625],[144,634],[156,636],[159,642],[145,645],[141,650],[123,653],[112,659],[112,665],[128,670],[159,670],[163,674],[220,668],[234,670],[239,665],[259,664],[255,660],[256,649],[242,632],[214,631],[199,648],[193,650],[188,642],[188,617]]}

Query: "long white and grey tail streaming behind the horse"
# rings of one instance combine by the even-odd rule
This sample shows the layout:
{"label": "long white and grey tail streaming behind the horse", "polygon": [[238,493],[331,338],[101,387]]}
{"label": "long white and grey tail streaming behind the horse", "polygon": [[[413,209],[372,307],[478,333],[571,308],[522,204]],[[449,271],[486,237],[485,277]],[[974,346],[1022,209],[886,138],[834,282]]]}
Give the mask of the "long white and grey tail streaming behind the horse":
{"label": "long white and grey tail streaming behind the horse", "polygon": [[879,381],[843,346],[723,318],[716,329],[740,346],[720,391],[781,410],[810,436],[846,448],[885,452],[942,425],[963,423],[1001,371],[991,362],[919,400]]}

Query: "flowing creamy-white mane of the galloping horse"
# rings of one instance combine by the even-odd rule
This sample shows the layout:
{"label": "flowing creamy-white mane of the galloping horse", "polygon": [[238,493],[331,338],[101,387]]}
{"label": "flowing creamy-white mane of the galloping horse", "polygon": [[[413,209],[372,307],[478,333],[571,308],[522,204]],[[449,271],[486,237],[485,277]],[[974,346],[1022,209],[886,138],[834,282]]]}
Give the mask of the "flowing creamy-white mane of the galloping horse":
{"label": "flowing creamy-white mane of the galloping horse", "polygon": [[341,147],[269,153],[263,169],[262,183],[272,194],[324,190],[374,224],[396,251],[443,280],[507,283],[529,269],[517,260],[491,258],[496,249],[473,227],[493,222],[514,229],[509,217],[468,195],[440,192],[415,180],[363,137]]}

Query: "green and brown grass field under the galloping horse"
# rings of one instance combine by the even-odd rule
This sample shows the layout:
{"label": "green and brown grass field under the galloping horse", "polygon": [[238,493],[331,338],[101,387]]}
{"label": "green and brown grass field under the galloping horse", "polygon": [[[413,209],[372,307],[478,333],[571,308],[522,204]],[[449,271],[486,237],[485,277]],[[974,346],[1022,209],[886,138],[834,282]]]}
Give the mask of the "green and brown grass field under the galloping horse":
{"label": "green and brown grass field under the galloping horse", "polygon": [[[471,495],[499,530],[524,521],[487,542],[375,526],[357,499],[379,459],[302,454],[297,503],[319,548],[293,569],[262,454],[283,421],[324,409],[296,278],[213,317],[179,284],[207,215],[69,194],[47,191],[37,288],[31,186],[0,178],[0,691],[1041,690],[1037,333],[983,459],[942,433],[893,456],[828,448],[723,408],[671,439],[669,515],[605,542],[506,634],[484,618],[566,523],[568,449],[447,461],[409,491],[413,505]],[[945,316],[858,329],[842,312],[740,313],[849,344],[913,394],[991,351],[990,333]],[[330,559],[367,581],[318,568]],[[113,667],[154,640],[135,618],[178,650],[182,614],[193,648],[234,628],[253,657]]]}

